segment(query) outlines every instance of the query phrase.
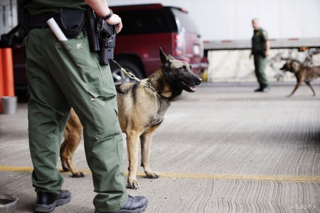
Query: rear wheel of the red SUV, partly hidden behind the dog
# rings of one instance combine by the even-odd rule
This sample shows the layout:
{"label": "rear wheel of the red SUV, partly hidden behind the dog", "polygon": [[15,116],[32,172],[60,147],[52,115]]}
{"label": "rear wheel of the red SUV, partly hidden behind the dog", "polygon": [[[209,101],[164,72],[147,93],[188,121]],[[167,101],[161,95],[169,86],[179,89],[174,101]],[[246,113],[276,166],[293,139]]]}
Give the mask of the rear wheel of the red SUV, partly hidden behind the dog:
{"label": "rear wheel of the red SUV, partly hidden behind the dog", "polygon": [[[127,71],[135,75],[135,77],[142,79],[143,74],[142,70],[133,62],[130,61],[118,61],[119,64]],[[111,62],[111,72],[112,72],[112,77],[115,85],[118,84],[124,84],[128,82],[133,82],[133,79],[130,79],[126,74],[117,67],[116,64]]]}

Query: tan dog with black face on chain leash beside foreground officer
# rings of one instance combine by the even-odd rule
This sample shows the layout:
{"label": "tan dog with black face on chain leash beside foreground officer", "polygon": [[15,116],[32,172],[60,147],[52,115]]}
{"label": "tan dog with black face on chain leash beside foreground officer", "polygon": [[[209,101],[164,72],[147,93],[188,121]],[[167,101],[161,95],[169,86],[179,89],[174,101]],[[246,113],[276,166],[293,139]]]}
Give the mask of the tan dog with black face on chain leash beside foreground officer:
{"label": "tan dog with black face on chain leash beside foreground officer", "polygon": [[[150,148],[154,131],[164,119],[164,113],[183,90],[196,91],[202,79],[192,73],[192,66],[185,61],[166,56],[160,48],[161,67],[149,78],[151,88],[137,83],[117,85],[118,119],[122,132],[127,134],[129,159],[128,188],[137,189],[138,142],[141,140],[141,166],[147,178],[156,179],[160,174],[150,168]],[[60,148],[60,158],[64,171],[71,171],[73,177],[83,177],[73,164],[73,153],[79,145],[83,127],[78,116],[71,110],[64,131],[64,142]]]}

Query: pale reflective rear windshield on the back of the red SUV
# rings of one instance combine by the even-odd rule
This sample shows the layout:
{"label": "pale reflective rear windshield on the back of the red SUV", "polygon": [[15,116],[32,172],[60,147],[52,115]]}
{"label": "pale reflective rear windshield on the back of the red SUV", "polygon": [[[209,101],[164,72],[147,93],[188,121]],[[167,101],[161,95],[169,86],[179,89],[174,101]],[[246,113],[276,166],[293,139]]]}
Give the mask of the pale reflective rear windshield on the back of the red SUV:
{"label": "pale reflective rear windshield on the back of the red SUV", "polygon": [[177,25],[178,25],[178,29],[179,31],[182,32],[194,32],[196,34],[199,34],[199,30],[196,27],[196,25],[194,24],[193,20],[190,18],[190,16],[188,15],[188,13],[183,12],[177,8],[171,8],[174,16],[176,17],[177,21]]}

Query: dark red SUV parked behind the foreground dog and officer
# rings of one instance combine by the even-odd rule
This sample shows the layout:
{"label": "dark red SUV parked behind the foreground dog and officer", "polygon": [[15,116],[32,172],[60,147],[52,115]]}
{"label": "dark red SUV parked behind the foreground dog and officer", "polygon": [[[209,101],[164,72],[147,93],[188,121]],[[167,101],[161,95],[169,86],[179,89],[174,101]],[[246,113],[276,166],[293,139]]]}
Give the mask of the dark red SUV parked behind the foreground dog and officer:
{"label": "dark red SUV parked behind the foreground dog and officer", "polygon": [[[139,78],[151,75],[160,67],[159,47],[166,54],[186,61],[195,74],[207,67],[199,30],[183,8],[162,4],[111,7],[124,28],[116,37],[115,60]],[[115,83],[128,79],[111,64]]]}

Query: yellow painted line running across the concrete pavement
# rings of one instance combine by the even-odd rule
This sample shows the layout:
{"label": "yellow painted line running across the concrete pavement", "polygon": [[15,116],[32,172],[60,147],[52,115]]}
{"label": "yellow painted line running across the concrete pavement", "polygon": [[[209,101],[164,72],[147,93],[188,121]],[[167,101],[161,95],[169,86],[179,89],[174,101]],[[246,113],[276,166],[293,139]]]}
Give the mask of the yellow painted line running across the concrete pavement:
{"label": "yellow painted line running across the concrete pavement", "polygon": [[[33,167],[22,166],[0,166],[0,171],[32,172]],[[64,172],[64,174],[71,174]],[[79,169],[80,172],[92,174],[89,169]],[[125,176],[128,176],[126,171]],[[268,176],[268,175],[232,175],[232,174],[205,174],[205,173],[160,173],[164,178],[186,178],[186,179],[218,179],[218,180],[251,180],[251,181],[280,181],[280,182],[320,182],[320,176]],[[144,172],[138,172],[137,176],[145,177]]]}

